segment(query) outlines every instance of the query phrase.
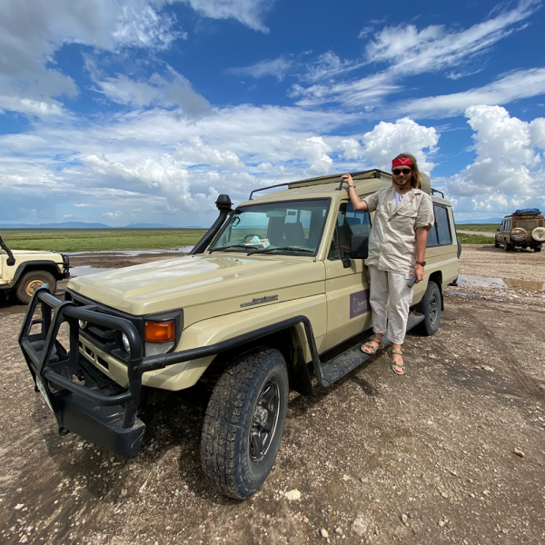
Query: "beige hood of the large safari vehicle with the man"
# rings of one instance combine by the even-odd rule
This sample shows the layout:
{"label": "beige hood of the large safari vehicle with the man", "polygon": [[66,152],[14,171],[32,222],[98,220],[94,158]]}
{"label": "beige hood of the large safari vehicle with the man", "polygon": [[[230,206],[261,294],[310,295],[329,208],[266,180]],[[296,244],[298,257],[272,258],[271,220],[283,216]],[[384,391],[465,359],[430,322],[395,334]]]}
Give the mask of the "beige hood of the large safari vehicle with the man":
{"label": "beige hood of the large safari vehicle with the man", "polygon": [[[68,288],[142,316],[183,309],[184,323],[325,292],[324,266],[307,256],[197,254],[97,272]],[[250,303],[250,304],[247,304]],[[243,306],[241,306],[243,305]]]}

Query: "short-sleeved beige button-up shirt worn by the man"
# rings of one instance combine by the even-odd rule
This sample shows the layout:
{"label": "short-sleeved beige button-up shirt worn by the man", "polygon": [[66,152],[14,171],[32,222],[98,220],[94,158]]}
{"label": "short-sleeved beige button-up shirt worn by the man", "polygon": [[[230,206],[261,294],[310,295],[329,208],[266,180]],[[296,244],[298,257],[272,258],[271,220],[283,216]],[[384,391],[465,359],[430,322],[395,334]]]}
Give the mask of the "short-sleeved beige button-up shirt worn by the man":
{"label": "short-sleeved beige button-up shirt worn by the man", "polygon": [[363,199],[369,212],[376,212],[369,236],[369,256],[365,264],[381,271],[401,272],[407,278],[416,263],[416,230],[431,229],[431,196],[412,188],[395,207],[395,187],[383,188]]}

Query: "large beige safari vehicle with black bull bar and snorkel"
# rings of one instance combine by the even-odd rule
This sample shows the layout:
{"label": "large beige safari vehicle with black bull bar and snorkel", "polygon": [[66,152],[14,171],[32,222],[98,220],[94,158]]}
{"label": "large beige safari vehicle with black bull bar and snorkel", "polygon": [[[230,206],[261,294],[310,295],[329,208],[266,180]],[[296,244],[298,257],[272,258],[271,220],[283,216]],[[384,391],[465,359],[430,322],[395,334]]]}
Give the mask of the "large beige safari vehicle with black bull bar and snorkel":
{"label": "large beige safari vehicle with black bull bar and snorkel", "polygon": [[[362,196],[391,185],[379,170],[352,178]],[[459,253],[451,204],[426,185],[436,223],[408,329],[431,335]],[[190,255],[75,278],[65,302],[35,292],[19,342],[61,433],[134,456],[139,408],[193,392],[205,409],[203,472],[244,499],[272,470],[290,389],[313,395],[369,358],[373,214],[352,209],[339,175],[264,189],[235,210],[220,195]],[[68,342],[57,336],[64,322]]]}

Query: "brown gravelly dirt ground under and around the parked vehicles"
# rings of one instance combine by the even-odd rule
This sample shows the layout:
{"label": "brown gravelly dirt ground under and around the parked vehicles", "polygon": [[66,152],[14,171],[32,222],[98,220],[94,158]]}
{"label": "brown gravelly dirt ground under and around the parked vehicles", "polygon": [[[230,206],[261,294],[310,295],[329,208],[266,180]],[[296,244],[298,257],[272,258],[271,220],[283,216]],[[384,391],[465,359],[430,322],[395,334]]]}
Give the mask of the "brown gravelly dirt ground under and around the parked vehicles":
{"label": "brown gravelly dirt ground under and around the parked vehicles", "polygon": [[[489,246],[461,260],[532,280],[544,265]],[[275,468],[243,502],[208,488],[203,417],[181,398],[144,412],[135,459],[59,437],[16,343],[24,308],[0,303],[0,541],[543,543],[544,302],[450,287],[440,331],[406,339],[406,376],[380,355],[316,398],[292,394]]]}

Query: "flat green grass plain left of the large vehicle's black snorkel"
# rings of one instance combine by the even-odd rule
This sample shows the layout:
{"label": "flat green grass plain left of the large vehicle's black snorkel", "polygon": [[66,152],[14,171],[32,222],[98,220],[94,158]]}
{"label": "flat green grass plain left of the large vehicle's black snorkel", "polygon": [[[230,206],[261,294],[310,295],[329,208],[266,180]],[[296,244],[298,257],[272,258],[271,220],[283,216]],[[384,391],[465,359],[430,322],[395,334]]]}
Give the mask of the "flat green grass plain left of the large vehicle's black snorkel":
{"label": "flat green grass plain left of the large vehicle's black snorkel", "polygon": [[192,229],[5,229],[0,233],[12,250],[101,252],[104,250],[167,250],[193,246],[204,230]]}

